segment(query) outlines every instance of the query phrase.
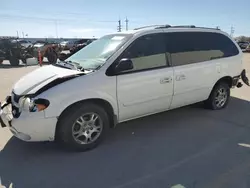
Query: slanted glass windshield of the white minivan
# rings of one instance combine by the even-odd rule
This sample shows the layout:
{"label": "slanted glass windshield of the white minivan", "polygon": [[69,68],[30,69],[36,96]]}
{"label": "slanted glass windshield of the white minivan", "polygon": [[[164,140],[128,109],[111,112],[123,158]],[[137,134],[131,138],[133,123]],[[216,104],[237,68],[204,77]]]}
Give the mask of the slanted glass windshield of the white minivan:
{"label": "slanted glass windshield of the white minivan", "polygon": [[67,61],[79,63],[85,69],[96,69],[103,65],[130,37],[130,34],[106,35],[78,51]]}

